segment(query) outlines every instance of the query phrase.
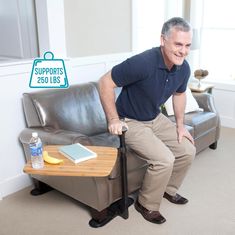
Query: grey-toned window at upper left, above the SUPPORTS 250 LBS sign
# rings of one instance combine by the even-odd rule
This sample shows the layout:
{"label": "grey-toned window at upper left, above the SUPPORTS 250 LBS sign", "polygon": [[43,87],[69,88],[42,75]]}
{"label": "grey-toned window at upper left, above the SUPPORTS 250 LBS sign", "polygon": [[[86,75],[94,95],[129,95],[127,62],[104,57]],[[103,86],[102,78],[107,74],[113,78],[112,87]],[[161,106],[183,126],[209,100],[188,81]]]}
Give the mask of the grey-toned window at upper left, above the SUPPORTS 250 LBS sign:
{"label": "grey-toned window at upper left, above the SUPPORTS 250 LBS sign", "polygon": [[0,60],[38,56],[34,0],[0,0]]}

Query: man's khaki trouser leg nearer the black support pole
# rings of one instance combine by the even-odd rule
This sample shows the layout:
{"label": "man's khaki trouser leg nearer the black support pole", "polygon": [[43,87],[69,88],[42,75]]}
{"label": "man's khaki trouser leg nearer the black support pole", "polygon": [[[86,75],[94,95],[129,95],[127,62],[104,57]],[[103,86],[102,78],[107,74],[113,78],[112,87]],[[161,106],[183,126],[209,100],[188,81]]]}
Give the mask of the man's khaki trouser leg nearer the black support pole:
{"label": "man's khaki trouser leg nearer the black support pole", "polygon": [[138,201],[146,209],[158,211],[172,174],[175,157],[165,143],[153,133],[153,121],[125,121],[129,127],[125,136],[126,143],[149,163]]}

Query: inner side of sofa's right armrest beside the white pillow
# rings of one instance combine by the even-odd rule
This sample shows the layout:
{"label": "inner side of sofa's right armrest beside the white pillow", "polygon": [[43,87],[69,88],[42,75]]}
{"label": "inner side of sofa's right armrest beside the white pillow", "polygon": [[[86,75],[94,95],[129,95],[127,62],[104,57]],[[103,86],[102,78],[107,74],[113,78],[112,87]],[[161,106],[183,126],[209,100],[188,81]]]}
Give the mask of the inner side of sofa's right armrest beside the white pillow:
{"label": "inner side of sofa's right armrest beside the white pillow", "polygon": [[192,92],[194,98],[196,99],[198,105],[200,108],[203,108],[205,112],[213,112],[218,114],[216,108],[215,108],[215,103],[214,103],[214,98],[211,94],[209,93],[196,93]]}

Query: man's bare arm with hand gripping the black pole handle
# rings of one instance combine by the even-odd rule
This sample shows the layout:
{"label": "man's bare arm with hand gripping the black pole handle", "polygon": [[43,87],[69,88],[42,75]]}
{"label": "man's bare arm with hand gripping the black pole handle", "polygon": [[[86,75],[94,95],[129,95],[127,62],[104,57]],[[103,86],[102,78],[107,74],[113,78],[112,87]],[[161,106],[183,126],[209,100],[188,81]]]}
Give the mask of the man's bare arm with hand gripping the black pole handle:
{"label": "man's bare arm with hand gripping the black pole handle", "polygon": [[115,87],[117,86],[113,82],[111,71],[100,78],[99,94],[106,118],[108,120],[108,129],[111,134],[120,135],[122,134],[122,126],[124,124],[119,120],[115,105]]}

